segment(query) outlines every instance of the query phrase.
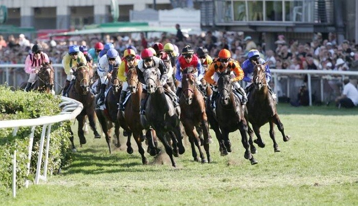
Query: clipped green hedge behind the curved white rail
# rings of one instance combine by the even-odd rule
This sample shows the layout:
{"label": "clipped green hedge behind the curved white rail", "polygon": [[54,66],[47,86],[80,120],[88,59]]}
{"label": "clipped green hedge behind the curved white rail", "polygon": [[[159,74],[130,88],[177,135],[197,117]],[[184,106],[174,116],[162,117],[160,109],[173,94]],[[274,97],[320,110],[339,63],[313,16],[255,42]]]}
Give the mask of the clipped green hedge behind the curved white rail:
{"label": "clipped green hedge behind the curved white rail", "polygon": [[[61,112],[59,96],[38,92],[11,91],[0,86],[0,121],[10,119],[34,119],[41,116],[54,116]],[[56,174],[58,169],[70,160],[70,121],[55,123],[51,127],[48,174]],[[10,194],[12,184],[12,158],[16,150],[16,185],[24,186],[25,180],[34,180],[42,126],[36,126],[31,156],[30,174],[27,176],[28,145],[31,127],[20,127],[16,136],[13,129],[0,130],[0,192]],[[45,151],[43,151],[43,157]],[[42,158],[43,166],[44,158]],[[43,168],[43,167],[42,167]],[[42,173],[43,171],[41,171]]]}

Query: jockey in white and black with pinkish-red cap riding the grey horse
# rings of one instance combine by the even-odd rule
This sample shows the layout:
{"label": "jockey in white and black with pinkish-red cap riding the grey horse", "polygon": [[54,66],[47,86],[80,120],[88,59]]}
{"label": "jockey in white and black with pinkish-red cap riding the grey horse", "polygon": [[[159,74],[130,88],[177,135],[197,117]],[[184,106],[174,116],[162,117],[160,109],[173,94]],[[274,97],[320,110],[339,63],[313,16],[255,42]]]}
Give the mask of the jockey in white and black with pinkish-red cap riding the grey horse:
{"label": "jockey in white and black with pinkish-red cap riding the grey horse", "polygon": [[[138,79],[139,81],[144,85],[143,87],[143,92],[142,92],[142,98],[141,98],[141,109],[140,109],[140,114],[144,115],[145,114],[145,105],[146,105],[146,101],[147,101],[147,90],[145,87],[145,81],[144,81],[144,76],[143,76],[143,72],[146,68],[148,67],[154,67],[156,68],[156,70],[160,72],[160,82],[163,85],[163,87],[170,92],[170,88],[167,85],[167,68],[165,67],[163,60],[154,56],[153,52],[150,49],[144,49],[141,53],[142,59],[139,60],[138,65],[137,65],[137,72],[138,72]],[[172,96],[174,96],[175,94],[171,94]],[[174,101],[176,102],[176,101]],[[174,107],[176,107],[177,105],[174,105]]]}

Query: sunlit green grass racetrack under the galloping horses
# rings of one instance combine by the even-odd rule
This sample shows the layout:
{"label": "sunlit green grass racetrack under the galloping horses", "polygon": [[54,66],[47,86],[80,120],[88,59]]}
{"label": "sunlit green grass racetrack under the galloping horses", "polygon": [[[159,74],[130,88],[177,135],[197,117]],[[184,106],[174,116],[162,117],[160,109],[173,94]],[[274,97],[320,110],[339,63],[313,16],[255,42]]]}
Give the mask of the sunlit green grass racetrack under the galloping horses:
{"label": "sunlit green grass racetrack under the galloping horses", "polygon": [[61,175],[20,189],[15,199],[0,194],[0,204],[357,205],[358,108],[279,104],[278,110],[292,139],[283,142],[276,128],[281,152],[274,153],[269,126],[262,127],[266,147],[258,148],[255,166],[243,158],[238,132],[230,134],[233,152],[228,156],[220,156],[216,140],[210,145],[210,164],[194,162],[185,140],[176,169],[165,153],[155,158],[146,153],[149,164],[143,166],[134,141],[135,152],[126,153],[124,137],[122,147],[112,145],[109,155],[104,137],[90,134]]}

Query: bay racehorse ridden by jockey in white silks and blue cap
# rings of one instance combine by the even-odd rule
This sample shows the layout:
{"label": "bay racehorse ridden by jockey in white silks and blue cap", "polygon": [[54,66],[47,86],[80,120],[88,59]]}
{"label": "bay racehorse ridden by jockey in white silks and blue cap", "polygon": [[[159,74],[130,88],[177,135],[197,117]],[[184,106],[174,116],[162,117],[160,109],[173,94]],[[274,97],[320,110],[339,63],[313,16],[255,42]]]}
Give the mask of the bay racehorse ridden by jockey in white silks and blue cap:
{"label": "bay racehorse ridden by jockey in white silks and blue cap", "polygon": [[117,70],[118,67],[114,67],[112,71],[112,76],[110,79],[110,86],[107,90],[107,95],[105,96],[105,109],[96,108],[96,115],[98,118],[98,121],[100,122],[102,126],[102,130],[104,132],[106,142],[109,149],[109,154],[111,154],[110,149],[110,139],[111,139],[111,133],[113,124],[115,125],[115,135],[117,138],[117,143],[115,146],[117,148],[121,147],[121,143],[119,141],[119,122],[117,119],[117,112],[118,112],[118,102],[119,97],[122,91],[122,82],[117,78]]}

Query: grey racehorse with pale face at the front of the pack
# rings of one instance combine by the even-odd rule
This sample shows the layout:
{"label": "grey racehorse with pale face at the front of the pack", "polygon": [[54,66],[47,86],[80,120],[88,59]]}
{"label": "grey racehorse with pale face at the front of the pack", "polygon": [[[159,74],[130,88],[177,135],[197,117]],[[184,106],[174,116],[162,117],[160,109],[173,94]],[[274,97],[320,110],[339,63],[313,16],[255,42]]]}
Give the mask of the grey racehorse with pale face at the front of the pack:
{"label": "grey racehorse with pale face at the front of the pack", "polygon": [[[180,108],[174,108],[172,100],[164,93],[155,68],[146,68],[143,77],[149,96],[145,109],[147,123],[142,122],[142,125],[148,124],[155,130],[170,157],[172,166],[176,167],[173,154],[178,156],[178,153],[184,154],[185,152],[180,130]],[[165,137],[166,134],[171,137],[173,150]]]}

